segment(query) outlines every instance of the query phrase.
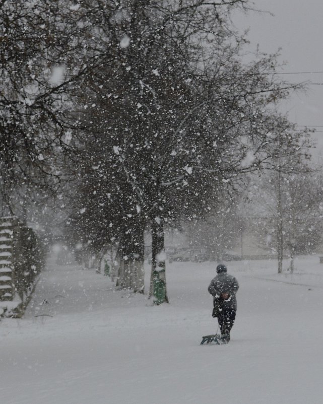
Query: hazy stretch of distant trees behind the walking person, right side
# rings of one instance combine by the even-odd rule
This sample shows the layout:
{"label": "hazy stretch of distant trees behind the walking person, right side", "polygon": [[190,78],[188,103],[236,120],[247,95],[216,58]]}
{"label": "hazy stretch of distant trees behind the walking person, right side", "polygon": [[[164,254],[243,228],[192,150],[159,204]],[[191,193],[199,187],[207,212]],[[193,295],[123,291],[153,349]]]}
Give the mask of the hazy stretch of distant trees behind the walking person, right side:
{"label": "hazy stretch of distant trees behind the walking person, right side", "polygon": [[322,184],[320,171],[293,163],[283,167],[281,162],[280,170],[261,176],[253,173],[235,200],[225,200],[221,208],[183,226],[189,248],[217,261],[255,250],[259,256],[277,255],[279,273],[287,255],[292,273],[295,254],[313,253],[321,246]]}

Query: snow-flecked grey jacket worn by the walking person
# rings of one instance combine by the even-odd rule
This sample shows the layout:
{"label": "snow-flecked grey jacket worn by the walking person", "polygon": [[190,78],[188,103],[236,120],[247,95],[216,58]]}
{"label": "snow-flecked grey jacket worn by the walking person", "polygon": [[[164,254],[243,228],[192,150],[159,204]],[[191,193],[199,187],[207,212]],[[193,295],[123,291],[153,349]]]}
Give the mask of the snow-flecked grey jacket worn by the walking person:
{"label": "snow-flecked grey jacket worn by the walking person", "polygon": [[[238,281],[227,273],[218,274],[212,279],[208,291],[213,296],[214,306],[219,303],[223,303],[224,309],[236,310],[237,309],[237,299],[235,294],[239,289]],[[222,293],[228,293],[230,297],[227,300],[221,298]]]}

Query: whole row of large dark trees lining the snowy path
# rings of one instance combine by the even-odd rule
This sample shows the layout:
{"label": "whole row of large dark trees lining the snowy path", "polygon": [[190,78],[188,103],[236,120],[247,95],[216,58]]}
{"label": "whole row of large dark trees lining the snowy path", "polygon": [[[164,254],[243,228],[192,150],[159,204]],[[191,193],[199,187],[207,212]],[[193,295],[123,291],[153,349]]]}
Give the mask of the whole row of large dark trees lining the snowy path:
{"label": "whole row of large dark trees lining the snowy path", "polygon": [[246,173],[279,172],[306,149],[306,132],[273,108],[293,88],[277,80],[277,55],[241,61],[230,13],[247,6],[1,2],[3,206],[60,186],[70,243],[99,261],[116,246],[117,283],[138,292],[149,229],[152,295],[165,226],[204,217]]}

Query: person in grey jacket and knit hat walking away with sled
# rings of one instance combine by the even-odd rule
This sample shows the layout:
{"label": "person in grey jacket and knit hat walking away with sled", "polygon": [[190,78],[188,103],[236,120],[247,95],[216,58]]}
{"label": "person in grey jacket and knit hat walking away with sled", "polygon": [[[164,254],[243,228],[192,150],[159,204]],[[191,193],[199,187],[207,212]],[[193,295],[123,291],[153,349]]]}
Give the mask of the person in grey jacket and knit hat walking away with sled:
{"label": "person in grey jacket and knit hat walking away with sled", "polygon": [[230,331],[235,320],[237,300],[235,294],[239,289],[238,281],[227,274],[227,267],[217,266],[217,276],[212,279],[208,291],[213,296],[213,317],[218,317],[222,339],[230,341]]}

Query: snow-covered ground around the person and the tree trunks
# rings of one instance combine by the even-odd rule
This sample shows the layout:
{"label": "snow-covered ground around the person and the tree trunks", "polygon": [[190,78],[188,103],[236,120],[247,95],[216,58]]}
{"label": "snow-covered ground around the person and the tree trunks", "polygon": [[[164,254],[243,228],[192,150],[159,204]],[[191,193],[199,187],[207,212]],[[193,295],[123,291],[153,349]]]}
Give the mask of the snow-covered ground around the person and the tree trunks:
{"label": "snow-covered ground around the person and the tree trunks", "polygon": [[318,256],[298,258],[293,275],[276,274],[274,260],[227,264],[240,283],[232,339],[200,346],[217,330],[207,292],[215,263],[169,264],[170,304],[152,307],[49,259],[25,317],[0,322],[1,402],[321,404]]}

